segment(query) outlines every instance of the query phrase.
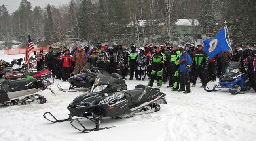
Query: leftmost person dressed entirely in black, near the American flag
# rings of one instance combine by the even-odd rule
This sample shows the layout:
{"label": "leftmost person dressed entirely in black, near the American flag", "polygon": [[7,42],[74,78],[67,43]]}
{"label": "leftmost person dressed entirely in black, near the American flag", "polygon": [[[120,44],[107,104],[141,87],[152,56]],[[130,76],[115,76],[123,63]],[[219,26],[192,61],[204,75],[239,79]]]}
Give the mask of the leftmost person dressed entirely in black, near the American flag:
{"label": "leftmost person dressed entirely in black, near the American flag", "polygon": [[52,72],[53,77],[55,77],[55,53],[53,52],[53,47],[49,46],[49,52],[45,55],[45,62],[47,64],[47,69]]}

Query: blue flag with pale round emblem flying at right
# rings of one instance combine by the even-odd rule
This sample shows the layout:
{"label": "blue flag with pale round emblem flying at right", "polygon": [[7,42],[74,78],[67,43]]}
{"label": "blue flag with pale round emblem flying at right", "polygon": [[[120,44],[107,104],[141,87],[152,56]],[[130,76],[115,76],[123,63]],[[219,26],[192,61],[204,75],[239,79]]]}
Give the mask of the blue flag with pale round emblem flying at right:
{"label": "blue flag with pale round emblem flying at right", "polygon": [[228,41],[226,39],[226,27],[224,27],[214,38],[205,40],[203,41],[203,43],[203,50],[208,53],[209,59],[222,51],[230,49],[230,46],[228,45]]}

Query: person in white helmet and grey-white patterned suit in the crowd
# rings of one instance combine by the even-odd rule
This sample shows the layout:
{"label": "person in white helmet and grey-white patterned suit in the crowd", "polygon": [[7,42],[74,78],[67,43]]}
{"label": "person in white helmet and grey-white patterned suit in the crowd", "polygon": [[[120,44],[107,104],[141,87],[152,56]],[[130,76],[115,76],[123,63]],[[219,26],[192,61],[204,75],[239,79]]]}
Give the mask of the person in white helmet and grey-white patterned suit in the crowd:
{"label": "person in white helmet and grey-white patterned suit in the crowd", "polygon": [[145,80],[146,77],[146,63],[147,63],[147,57],[144,54],[144,47],[139,48],[139,53],[136,57],[136,63],[137,63],[137,71],[138,71],[138,78],[137,80]]}

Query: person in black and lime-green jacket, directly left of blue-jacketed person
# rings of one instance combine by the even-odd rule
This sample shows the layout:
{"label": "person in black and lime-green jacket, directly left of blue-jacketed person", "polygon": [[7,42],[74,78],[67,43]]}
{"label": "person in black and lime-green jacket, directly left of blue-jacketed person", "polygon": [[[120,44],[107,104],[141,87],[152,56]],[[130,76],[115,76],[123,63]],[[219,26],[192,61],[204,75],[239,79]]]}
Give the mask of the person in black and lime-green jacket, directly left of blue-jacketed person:
{"label": "person in black and lime-green jacket, directly left of blue-jacketed person", "polygon": [[179,81],[178,81],[178,75],[179,75],[179,57],[180,57],[180,51],[178,50],[178,45],[174,44],[172,47],[173,51],[171,53],[170,58],[170,70],[169,74],[171,74],[171,78],[173,81],[173,88],[172,91],[176,91],[179,88]]}

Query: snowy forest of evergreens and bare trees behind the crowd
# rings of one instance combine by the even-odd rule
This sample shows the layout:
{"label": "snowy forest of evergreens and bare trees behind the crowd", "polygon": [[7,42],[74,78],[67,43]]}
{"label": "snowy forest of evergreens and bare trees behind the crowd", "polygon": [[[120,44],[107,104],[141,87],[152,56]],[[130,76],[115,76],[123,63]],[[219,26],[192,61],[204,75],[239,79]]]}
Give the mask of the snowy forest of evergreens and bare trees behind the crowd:
{"label": "snowy forest of evergreens and bare trees behind the crowd", "polygon": [[[137,46],[202,39],[197,32],[179,35],[175,28],[178,19],[197,19],[194,28],[200,28],[206,39],[214,37],[226,20],[233,45],[256,42],[255,0],[70,0],[59,7],[48,4],[33,9],[29,0],[21,0],[12,14],[0,6],[0,49],[10,49],[13,41],[25,47],[28,33],[33,42],[44,40],[47,44],[68,38],[88,45]],[[144,26],[137,24],[140,20],[146,21]],[[163,23],[164,32],[159,28]]]}

